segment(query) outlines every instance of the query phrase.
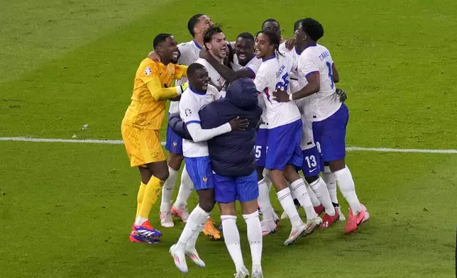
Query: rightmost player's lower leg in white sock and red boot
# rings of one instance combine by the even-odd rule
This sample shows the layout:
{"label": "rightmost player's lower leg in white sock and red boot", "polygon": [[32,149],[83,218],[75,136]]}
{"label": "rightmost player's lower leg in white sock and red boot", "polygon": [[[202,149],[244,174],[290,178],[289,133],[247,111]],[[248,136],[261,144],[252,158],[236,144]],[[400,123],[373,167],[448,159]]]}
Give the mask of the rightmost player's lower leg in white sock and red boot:
{"label": "rightmost player's lower leg in white sock and red boot", "polygon": [[365,206],[358,201],[351,171],[346,166],[344,158],[329,162],[329,166],[331,172],[334,173],[335,178],[338,181],[338,187],[340,188],[341,194],[343,194],[351,207],[344,230],[346,233],[352,233],[357,230],[360,224],[368,221],[370,215]]}

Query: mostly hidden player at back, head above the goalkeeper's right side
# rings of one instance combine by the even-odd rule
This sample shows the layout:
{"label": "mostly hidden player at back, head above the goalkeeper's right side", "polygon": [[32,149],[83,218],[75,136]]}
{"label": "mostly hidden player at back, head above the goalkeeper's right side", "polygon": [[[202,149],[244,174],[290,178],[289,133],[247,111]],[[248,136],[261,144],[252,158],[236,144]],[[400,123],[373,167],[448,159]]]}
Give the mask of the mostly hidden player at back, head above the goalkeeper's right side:
{"label": "mostly hidden player at back, head above the goalkeeper's right side", "polygon": [[[192,16],[187,23],[190,35],[193,40],[187,43],[180,43],[178,45],[178,57],[177,63],[181,65],[190,65],[195,62],[199,57],[199,51],[203,45],[203,34],[204,31],[213,25],[211,18],[208,16],[198,13]],[[187,78],[177,80],[177,85],[181,85],[187,82]],[[171,101],[169,115],[177,113],[179,101]],[[192,192],[192,182],[189,174],[187,173],[186,167],[182,171],[181,175],[181,186],[177,196],[177,200],[173,206],[171,206],[171,196],[173,189],[176,184],[177,174],[182,165],[182,138],[177,135],[170,126],[167,127],[167,137],[165,143],[165,150],[169,152],[168,155],[168,171],[170,176],[163,185],[162,190],[162,201],[160,204],[160,224],[163,227],[172,227],[175,224],[172,221],[172,214],[181,218],[182,221],[187,221],[189,212],[186,208],[187,196]]]}

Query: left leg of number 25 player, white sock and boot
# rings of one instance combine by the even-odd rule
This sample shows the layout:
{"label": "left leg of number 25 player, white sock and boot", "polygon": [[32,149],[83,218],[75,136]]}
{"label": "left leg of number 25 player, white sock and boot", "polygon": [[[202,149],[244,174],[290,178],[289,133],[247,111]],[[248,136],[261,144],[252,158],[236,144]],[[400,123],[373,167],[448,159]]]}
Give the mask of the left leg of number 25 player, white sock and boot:
{"label": "left leg of number 25 player, white sock and boot", "polygon": [[[287,238],[284,243],[285,245],[290,245],[304,233],[307,226],[298,215],[297,208],[290,196],[290,189],[285,182],[284,172],[279,169],[270,169],[270,179],[276,189],[277,199],[280,200],[282,208],[286,211],[290,223],[292,223],[292,231],[290,232],[289,238]],[[311,203],[311,201],[309,202]]]}

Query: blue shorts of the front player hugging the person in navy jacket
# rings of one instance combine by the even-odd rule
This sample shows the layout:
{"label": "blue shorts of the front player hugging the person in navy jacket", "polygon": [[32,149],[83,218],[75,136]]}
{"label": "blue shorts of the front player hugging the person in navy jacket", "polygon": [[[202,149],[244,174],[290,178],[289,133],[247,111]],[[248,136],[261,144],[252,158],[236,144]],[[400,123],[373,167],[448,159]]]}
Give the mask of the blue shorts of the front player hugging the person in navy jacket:
{"label": "blue shorts of the front player hugging the person in navy jacket", "polygon": [[214,189],[213,169],[209,156],[184,157],[184,162],[195,190]]}

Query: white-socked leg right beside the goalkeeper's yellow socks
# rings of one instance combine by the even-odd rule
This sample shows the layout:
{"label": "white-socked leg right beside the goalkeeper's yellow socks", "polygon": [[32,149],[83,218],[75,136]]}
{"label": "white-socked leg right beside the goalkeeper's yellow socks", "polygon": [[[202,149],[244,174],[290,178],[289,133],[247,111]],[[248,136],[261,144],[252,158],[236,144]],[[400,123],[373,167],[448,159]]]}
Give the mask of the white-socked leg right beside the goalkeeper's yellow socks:
{"label": "white-socked leg right beside the goalkeeper's yellow socks", "polygon": [[169,152],[168,172],[170,175],[165,181],[165,184],[163,184],[162,201],[160,203],[160,225],[163,227],[175,226],[171,214],[171,196],[173,194],[173,189],[175,188],[177,174],[180,170],[182,160],[184,160],[183,155]]}

